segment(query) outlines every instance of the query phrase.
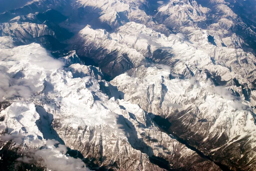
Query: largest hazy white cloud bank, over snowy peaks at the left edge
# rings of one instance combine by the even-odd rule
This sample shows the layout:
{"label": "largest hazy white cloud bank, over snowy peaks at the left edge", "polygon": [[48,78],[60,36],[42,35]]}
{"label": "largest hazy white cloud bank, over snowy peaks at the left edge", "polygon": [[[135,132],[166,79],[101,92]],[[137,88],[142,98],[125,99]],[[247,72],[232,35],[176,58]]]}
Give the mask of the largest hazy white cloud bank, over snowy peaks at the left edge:
{"label": "largest hazy white cloud bank, over snowy peaks at the left edge", "polygon": [[61,67],[61,61],[38,44],[0,49],[0,101],[13,96],[26,99],[40,92],[44,78]]}

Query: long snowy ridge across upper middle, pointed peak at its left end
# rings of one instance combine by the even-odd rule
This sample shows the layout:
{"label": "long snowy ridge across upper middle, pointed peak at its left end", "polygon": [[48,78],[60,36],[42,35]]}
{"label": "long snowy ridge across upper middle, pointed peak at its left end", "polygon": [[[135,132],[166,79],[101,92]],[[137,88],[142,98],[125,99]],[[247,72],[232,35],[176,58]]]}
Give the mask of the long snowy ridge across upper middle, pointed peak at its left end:
{"label": "long snowy ridge across upper middle, pointed peak at its left end", "polygon": [[[232,84],[230,88],[234,92],[239,92],[236,87],[243,89],[239,96],[255,105],[253,93],[250,93],[254,89],[255,56],[241,48],[218,47],[209,43],[209,34],[205,30],[194,32],[190,35],[190,40],[187,40],[180,33],[166,37],[145,25],[130,22],[111,34],[87,26],[79,32],[79,39],[76,41],[83,42],[78,53],[93,56],[103,72],[111,76],[119,75],[132,67],[154,65],[148,61],[151,59],[172,67],[172,72],[180,75],[180,78],[210,78],[216,85],[222,86],[236,79],[238,84],[235,87]],[[203,73],[207,76],[202,76]],[[246,90],[248,88],[250,92]]]}

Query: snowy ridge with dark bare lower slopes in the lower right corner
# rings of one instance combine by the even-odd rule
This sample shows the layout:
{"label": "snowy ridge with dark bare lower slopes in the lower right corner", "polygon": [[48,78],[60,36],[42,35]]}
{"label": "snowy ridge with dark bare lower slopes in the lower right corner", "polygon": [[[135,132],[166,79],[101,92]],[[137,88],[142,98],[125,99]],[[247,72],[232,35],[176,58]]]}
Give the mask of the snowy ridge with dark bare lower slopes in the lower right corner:
{"label": "snowy ridge with dark bare lower slopes in the lower right corner", "polygon": [[[168,70],[140,67],[119,75],[111,84],[124,93],[126,101],[166,118],[170,133],[216,162],[255,168],[255,110],[250,104],[209,80],[170,79],[169,75]],[[241,156],[230,159],[237,154]]]}

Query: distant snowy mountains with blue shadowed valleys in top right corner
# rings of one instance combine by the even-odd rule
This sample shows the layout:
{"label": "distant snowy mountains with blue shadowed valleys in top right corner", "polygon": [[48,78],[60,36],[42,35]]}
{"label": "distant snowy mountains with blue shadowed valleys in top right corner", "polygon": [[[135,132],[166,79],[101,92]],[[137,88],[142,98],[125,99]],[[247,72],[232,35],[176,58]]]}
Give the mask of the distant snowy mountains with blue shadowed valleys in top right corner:
{"label": "distant snowy mountains with blue shadowed valleys in top right corner", "polygon": [[[205,29],[209,35],[214,36],[213,44],[216,46],[244,48],[255,53],[255,43],[251,41],[256,36],[253,22],[243,20],[240,17],[243,14],[233,11],[239,9],[234,6],[236,2],[224,0],[171,0],[160,6],[154,17],[158,23],[185,33],[189,38],[198,30]],[[238,36],[242,40],[237,40]]]}

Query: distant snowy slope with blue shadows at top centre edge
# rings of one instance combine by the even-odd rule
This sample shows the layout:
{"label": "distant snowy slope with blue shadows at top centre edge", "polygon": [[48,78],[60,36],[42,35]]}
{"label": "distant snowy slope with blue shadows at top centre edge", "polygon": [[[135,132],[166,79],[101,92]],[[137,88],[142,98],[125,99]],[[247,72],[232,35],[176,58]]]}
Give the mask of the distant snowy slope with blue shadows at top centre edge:
{"label": "distant snowy slope with blue shadows at top centre edge", "polygon": [[73,9],[77,10],[82,7],[89,14],[98,13],[95,19],[99,20],[105,29],[116,29],[127,22],[134,21],[164,34],[170,34],[172,32],[170,29],[157,23],[151,15],[142,10],[143,6],[148,4],[146,0],[77,0],[73,3]]}

